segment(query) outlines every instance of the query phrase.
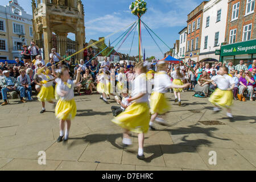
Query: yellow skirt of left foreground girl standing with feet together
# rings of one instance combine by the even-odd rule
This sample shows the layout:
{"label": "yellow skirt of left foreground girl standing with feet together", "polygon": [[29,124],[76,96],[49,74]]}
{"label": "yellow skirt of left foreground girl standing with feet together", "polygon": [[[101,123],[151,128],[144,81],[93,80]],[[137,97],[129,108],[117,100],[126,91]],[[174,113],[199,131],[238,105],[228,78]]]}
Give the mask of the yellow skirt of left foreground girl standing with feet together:
{"label": "yellow skirt of left foreground girl standing with feet together", "polygon": [[73,119],[76,116],[76,102],[75,100],[59,100],[55,107],[55,116],[58,119]]}

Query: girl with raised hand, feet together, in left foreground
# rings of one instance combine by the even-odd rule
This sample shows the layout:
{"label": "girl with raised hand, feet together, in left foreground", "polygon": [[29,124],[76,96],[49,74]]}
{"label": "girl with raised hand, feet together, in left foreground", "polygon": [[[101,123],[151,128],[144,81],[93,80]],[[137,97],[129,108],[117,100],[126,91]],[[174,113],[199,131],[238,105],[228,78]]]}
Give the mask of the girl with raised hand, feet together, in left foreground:
{"label": "girl with raised hand, feet together, in left foreground", "polygon": [[80,81],[81,68],[77,69],[76,80],[70,80],[70,76],[67,68],[62,68],[59,73],[59,79],[57,81],[56,92],[59,95],[59,101],[55,107],[55,116],[60,119],[60,136],[57,138],[57,142],[61,142],[64,136],[64,142],[68,140],[69,129],[71,127],[71,119],[76,116],[76,102],[74,100],[74,86]]}

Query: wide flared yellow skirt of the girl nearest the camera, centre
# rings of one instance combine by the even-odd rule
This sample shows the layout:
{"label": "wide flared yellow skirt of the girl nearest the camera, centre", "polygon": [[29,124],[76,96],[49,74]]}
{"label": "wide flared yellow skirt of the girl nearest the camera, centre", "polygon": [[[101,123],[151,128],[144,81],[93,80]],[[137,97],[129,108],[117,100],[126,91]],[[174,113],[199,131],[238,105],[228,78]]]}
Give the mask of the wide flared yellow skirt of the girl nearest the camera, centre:
{"label": "wide flared yellow skirt of the girl nearest the camera, centre", "polygon": [[147,102],[133,103],[112,119],[113,123],[134,133],[147,133],[150,113]]}

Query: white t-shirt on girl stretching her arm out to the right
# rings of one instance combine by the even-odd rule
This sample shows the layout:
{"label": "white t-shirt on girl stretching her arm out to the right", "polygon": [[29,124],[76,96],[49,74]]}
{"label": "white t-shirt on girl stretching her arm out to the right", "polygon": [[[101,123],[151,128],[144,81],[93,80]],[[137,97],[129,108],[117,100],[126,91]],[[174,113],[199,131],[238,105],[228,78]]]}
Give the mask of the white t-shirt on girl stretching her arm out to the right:
{"label": "white t-shirt on girl stretching her arm out to the right", "polygon": [[154,92],[166,93],[167,89],[172,86],[172,82],[166,72],[160,71],[155,74],[154,78]]}

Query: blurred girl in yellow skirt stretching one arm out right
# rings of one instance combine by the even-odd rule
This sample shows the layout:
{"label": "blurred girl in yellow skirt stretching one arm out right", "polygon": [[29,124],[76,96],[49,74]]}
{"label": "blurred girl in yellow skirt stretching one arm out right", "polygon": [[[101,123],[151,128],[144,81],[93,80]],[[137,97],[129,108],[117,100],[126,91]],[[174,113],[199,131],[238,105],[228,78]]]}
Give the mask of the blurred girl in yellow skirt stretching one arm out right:
{"label": "blurred girl in yellow skirt stretching one arm out right", "polygon": [[150,97],[150,130],[155,130],[153,127],[153,122],[157,122],[160,125],[168,126],[167,122],[164,119],[159,118],[158,114],[164,114],[170,110],[170,105],[168,104],[165,93],[169,88],[185,88],[190,84],[184,85],[174,85],[172,84],[169,76],[166,73],[167,64],[165,61],[158,62],[158,72],[155,74],[154,78],[154,89]]}

